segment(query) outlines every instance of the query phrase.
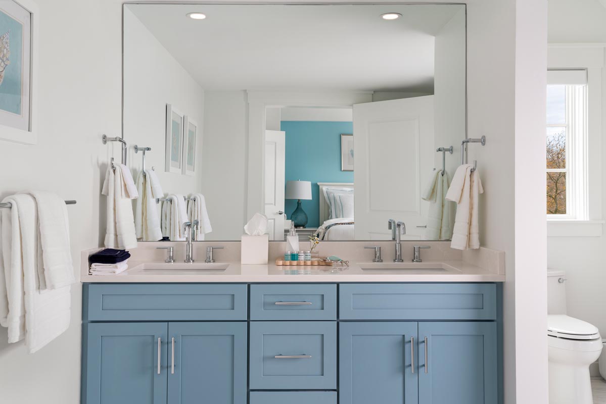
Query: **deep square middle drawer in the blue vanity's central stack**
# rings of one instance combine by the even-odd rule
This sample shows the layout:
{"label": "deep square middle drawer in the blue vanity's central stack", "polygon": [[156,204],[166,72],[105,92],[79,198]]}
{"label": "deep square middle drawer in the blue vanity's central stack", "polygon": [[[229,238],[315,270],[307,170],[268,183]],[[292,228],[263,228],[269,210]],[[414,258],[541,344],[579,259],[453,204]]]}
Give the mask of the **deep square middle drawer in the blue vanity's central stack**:
{"label": "deep square middle drawer in the blue vanity's central stack", "polygon": [[251,389],[336,389],[336,322],[251,322]]}

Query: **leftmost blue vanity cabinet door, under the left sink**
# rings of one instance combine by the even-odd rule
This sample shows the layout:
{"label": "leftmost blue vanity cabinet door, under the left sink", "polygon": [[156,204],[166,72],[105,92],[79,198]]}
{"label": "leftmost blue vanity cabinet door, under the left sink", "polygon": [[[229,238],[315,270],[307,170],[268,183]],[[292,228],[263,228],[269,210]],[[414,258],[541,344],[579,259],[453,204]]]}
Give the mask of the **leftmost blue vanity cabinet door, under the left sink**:
{"label": "leftmost blue vanity cabinet door, under the left sink", "polygon": [[84,324],[82,403],[166,404],[167,328],[167,323]]}

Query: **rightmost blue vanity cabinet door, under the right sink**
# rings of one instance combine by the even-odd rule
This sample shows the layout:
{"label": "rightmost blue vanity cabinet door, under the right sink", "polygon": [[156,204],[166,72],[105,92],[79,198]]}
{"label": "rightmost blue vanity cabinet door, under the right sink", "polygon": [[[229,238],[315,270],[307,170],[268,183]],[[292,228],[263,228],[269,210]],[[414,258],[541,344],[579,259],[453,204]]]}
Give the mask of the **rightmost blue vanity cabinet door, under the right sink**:
{"label": "rightmost blue vanity cabinet door, under the right sink", "polygon": [[496,323],[419,323],[419,404],[490,404],[497,394]]}

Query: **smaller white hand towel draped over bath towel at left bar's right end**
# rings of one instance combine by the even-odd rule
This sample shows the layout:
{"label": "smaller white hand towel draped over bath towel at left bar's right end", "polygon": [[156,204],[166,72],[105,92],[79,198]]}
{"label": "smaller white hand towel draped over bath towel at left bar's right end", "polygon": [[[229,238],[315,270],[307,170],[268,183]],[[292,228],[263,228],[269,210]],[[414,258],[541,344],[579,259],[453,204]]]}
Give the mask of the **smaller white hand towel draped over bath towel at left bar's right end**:
{"label": "smaller white hand towel draped over bath towel at left bar's right end", "polygon": [[[32,191],[38,206],[39,251],[44,262],[42,289],[59,289],[76,282],[70,250],[70,224],[65,201],[47,191]],[[39,271],[39,270],[38,270]]]}

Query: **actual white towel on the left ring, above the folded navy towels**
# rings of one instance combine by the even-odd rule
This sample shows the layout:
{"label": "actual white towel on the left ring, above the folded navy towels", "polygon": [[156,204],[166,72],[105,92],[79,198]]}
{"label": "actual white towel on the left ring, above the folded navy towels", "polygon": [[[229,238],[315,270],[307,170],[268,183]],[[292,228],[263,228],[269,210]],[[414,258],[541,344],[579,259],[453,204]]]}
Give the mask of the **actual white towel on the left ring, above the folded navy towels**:
{"label": "actual white towel on the left ring, above the folded navy towels", "polygon": [[128,250],[137,247],[133,203],[122,177],[122,169],[107,167],[102,194],[107,196],[105,247]]}

